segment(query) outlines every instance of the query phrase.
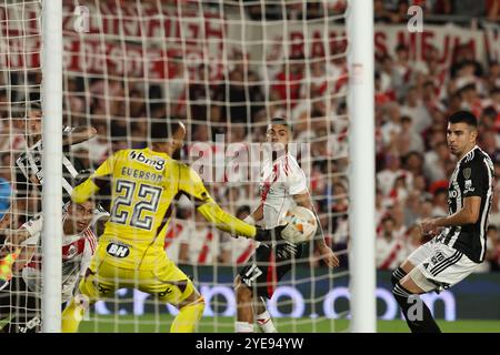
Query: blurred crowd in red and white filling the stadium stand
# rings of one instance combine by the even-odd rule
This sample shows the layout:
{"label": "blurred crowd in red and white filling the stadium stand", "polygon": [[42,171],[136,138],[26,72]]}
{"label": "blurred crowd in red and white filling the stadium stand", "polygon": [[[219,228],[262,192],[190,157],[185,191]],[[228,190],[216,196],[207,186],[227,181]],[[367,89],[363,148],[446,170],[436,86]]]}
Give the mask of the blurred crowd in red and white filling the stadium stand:
{"label": "blurred crowd in red and white filling the stadium stand", "polygon": [[[473,3],[474,11],[481,11],[478,16],[498,21],[499,2],[376,0],[374,4],[378,21],[394,23],[406,13],[401,9],[423,3],[428,11],[442,14],[470,14],[467,9]],[[252,18],[259,17],[257,9],[252,11],[256,11]],[[467,45],[457,50],[450,65],[439,62],[437,48],[430,49],[426,62],[419,65],[410,61],[404,45],[398,45],[394,52],[393,57],[377,57],[374,73],[376,255],[381,270],[397,267],[426,242],[418,227],[420,220],[448,213],[447,179],[456,165],[446,138],[447,116],[451,112],[466,109],[477,114],[479,143],[492,158],[496,175],[500,175],[500,63],[478,62]],[[97,138],[74,146],[73,155],[87,166],[96,168],[113,151],[143,148],[148,135],[146,123],[150,119],[176,116],[189,129],[189,143],[181,156],[186,158],[193,142],[213,142],[217,134],[224,134],[227,143],[262,142],[267,120],[284,115],[293,122],[294,139],[311,142],[311,193],[328,242],[333,250],[344,251],[349,244],[347,106],[344,95],[333,94],[347,88],[346,58],[334,57],[330,62],[290,58],[287,61],[290,68],[272,64],[250,68],[236,53],[227,78],[219,81],[209,80],[208,65],[201,64],[189,74],[184,65],[182,58],[172,60],[174,74],[167,84],[126,81],[113,68],[108,68],[107,80],[102,75],[67,78],[66,123],[91,124],[98,131]],[[34,84],[40,75],[30,75],[28,80]],[[26,91],[17,94],[16,100],[22,101]],[[37,93],[29,99],[37,100]],[[4,91],[0,91],[0,101],[8,102]],[[0,110],[2,118],[9,115],[6,106]],[[22,122],[4,124],[2,130],[7,129],[11,130],[10,142],[2,142],[0,151],[8,151],[9,146],[21,150]],[[7,168],[12,164],[10,159],[9,153],[1,154],[0,184],[11,181],[11,169]],[[258,202],[257,182],[222,180],[208,185],[214,199],[241,219]],[[4,200],[2,191],[0,209]],[[497,183],[483,271],[500,270],[499,200]],[[196,216],[188,202],[181,201],[167,233],[166,247],[179,262],[233,264],[244,262],[254,245],[243,239],[221,236]],[[346,253],[339,256],[346,266]]]}

